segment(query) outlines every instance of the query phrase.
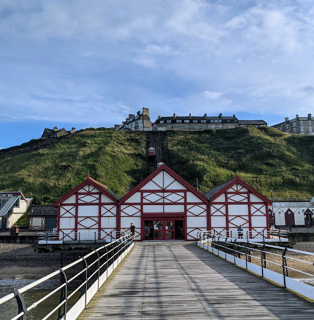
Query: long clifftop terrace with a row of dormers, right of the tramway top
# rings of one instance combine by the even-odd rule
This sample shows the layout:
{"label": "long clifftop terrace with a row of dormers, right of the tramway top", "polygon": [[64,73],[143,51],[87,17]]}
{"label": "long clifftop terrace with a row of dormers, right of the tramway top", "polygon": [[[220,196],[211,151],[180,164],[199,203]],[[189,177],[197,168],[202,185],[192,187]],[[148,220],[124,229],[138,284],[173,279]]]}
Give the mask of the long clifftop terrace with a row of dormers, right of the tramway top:
{"label": "long clifftop terrace with a row of dormers, right of the tramway top", "polygon": [[153,124],[161,130],[181,129],[181,130],[204,130],[204,129],[225,129],[237,126],[266,126],[264,120],[238,120],[235,114],[232,116],[158,116]]}

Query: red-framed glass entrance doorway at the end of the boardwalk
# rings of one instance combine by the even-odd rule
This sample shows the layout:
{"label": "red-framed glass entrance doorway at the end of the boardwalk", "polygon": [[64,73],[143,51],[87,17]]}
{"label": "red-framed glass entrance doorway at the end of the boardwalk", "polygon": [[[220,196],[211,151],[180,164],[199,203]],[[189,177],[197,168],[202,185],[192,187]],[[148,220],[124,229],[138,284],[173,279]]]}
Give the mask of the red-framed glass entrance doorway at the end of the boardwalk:
{"label": "red-framed glass entrance doorway at the end of the boardwalk", "polygon": [[144,240],[184,240],[184,219],[144,220]]}

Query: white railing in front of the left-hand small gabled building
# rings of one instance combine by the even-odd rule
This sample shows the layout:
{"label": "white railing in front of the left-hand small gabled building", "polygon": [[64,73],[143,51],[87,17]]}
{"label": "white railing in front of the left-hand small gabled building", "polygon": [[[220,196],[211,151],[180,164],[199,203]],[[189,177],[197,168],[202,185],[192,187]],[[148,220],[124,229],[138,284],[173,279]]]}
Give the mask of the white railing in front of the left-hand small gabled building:
{"label": "white railing in front of the left-hand small gabled building", "polygon": [[124,235],[120,231],[95,231],[95,232],[37,232],[38,244],[46,243],[97,243],[111,242],[112,239]]}

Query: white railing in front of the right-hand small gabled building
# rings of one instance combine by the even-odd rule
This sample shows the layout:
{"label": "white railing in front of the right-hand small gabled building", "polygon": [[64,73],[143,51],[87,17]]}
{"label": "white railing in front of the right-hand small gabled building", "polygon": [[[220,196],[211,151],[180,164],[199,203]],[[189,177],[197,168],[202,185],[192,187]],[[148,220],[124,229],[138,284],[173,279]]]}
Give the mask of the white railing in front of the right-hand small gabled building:
{"label": "white railing in front of the right-hand small gabled building", "polygon": [[[208,230],[199,232],[201,235],[204,235],[208,238],[216,239],[218,236],[227,237],[227,238],[238,238],[242,241],[247,239],[254,240],[277,240],[277,241],[286,241],[288,238],[288,231],[271,229],[263,231],[237,231],[237,230]],[[242,235],[241,235],[242,234]]]}

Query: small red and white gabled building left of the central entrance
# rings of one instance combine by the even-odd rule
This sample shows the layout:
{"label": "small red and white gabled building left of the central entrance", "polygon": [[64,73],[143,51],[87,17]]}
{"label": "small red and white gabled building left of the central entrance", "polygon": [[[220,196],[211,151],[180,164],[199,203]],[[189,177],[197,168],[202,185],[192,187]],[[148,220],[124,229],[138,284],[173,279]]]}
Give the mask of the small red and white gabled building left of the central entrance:
{"label": "small red and white gabled building left of the central entrance", "polygon": [[53,203],[58,208],[57,232],[64,240],[115,237],[118,200],[116,194],[88,175]]}

